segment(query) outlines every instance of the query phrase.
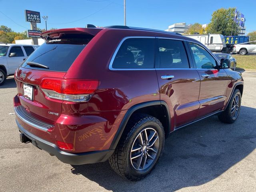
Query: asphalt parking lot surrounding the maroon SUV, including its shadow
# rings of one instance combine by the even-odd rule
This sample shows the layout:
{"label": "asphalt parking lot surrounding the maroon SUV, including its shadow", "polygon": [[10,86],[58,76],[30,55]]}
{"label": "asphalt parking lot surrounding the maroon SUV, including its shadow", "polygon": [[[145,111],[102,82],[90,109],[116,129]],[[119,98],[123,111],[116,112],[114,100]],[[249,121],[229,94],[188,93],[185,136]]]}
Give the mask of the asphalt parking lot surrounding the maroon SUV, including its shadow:
{"label": "asphalt parking lot surrounding the maroon SUV, including its shadow", "polygon": [[72,166],[22,144],[12,98],[16,83],[0,87],[0,191],[256,191],[256,72],[245,71],[240,116],[217,116],[177,130],[144,180],[120,178],[108,162]]}

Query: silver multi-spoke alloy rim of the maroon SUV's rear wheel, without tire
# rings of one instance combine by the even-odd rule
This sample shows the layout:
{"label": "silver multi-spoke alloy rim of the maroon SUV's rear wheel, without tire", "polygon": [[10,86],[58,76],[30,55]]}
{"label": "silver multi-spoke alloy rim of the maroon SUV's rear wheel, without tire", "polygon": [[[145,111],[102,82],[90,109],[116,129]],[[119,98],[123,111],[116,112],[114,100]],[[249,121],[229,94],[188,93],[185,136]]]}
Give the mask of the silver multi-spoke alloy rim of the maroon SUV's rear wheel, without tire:
{"label": "silver multi-spoke alloy rim of the maroon SUV's rear wheel, without tire", "polygon": [[145,170],[154,162],[159,148],[159,137],[153,128],[143,129],[132,144],[130,162],[134,169]]}

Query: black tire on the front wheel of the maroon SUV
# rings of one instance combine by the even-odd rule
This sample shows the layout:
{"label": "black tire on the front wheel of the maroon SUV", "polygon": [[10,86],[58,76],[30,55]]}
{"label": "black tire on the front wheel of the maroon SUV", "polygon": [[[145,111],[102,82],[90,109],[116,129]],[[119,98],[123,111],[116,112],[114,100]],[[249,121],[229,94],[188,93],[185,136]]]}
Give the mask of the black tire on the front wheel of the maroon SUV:
{"label": "black tire on the front wheel of the maroon SUV", "polygon": [[[234,115],[234,112],[232,113],[232,107],[233,107],[233,102],[234,99],[238,97],[239,101],[238,101],[238,110],[237,110],[237,114],[236,116]],[[224,110],[224,112],[222,112],[220,115],[218,115],[218,118],[221,122],[224,123],[234,123],[236,121],[236,119],[238,118],[239,112],[240,112],[240,107],[241,107],[241,93],[239,89],[235,89],[234,93],[232,94],[230,101],[228,103],[228,106],[226,108],[226,110]],[[236,107],[235,107],[236,110]]]}

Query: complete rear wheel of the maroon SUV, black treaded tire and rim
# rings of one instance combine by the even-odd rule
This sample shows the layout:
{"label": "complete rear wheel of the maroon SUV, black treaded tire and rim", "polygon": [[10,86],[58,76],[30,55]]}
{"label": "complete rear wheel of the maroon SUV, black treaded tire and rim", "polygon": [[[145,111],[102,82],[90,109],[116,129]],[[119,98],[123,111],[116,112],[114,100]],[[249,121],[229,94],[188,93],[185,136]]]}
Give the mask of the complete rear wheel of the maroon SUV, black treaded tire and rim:
{"label": "complete rear wheel of the maroon SUV, black treaded tire and rim", "polygon": [[146,114],[136,114],[129,120],[109,163],[120,176],[141,180],[154,169],[163,147],[161,122]]}

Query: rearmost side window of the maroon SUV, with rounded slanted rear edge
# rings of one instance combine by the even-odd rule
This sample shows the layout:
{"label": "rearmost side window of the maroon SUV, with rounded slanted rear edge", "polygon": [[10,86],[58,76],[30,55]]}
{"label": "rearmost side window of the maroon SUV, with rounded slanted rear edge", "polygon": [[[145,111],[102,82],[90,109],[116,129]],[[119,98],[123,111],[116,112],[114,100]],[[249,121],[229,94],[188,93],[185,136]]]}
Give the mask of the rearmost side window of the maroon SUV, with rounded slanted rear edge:
{"label": "rearmost side window of the maroon SUV, with rounded slanted rear edge", "polygon": [[155,38],[128,38],[120,46],[113,68],[154,68]]}

